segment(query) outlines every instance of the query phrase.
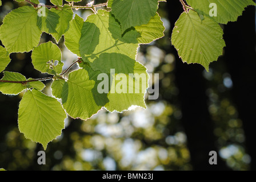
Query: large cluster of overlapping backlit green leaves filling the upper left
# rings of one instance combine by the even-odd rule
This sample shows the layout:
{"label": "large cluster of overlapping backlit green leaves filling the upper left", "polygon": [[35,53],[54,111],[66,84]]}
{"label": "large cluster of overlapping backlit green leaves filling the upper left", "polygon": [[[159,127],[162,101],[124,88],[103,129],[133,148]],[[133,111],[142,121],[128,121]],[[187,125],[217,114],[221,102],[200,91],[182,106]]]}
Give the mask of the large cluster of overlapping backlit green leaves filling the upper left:
{"label": "large cluster of overlapping backlit green leaves filling the upper left", "polygon": [[[0,80],[3,94],[24,92],[18,127],[26,138],[46,149],[47,143],[61,135],[67,115],[86,120],[103,107],[111,112],[122,112],[133,105],[146,108],[149,75],[136,61],[136,55],[139,44],[164,36],[157,0],[112,0],[88,6],[75,6],[74,2],[79,1],[63,5],[61,0],[51,0],[52,6],[38,6],[37,0],[26,2],[30,5],[12,10],[0,27],[0,40],[5,46],[0,47],[1,72],[11,61],[10,53],[32,51],[34,68],[50,75],[27,79],[5,71]],[[107,9],[96,10],[100,6]],[[91,9],[93,14],[84,20],[74,15],[73,9],[79,8]],[[53,42],[39,44],[42,32],[53,36],[57,43],[64,36],[67,49],[78,56],[72,65],[79,63],[79,69],[64,71],[59,46]],[[42,92],[43,80],[53,80],[52,96]]]}

